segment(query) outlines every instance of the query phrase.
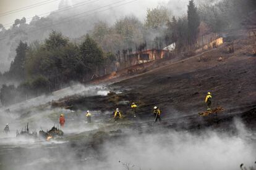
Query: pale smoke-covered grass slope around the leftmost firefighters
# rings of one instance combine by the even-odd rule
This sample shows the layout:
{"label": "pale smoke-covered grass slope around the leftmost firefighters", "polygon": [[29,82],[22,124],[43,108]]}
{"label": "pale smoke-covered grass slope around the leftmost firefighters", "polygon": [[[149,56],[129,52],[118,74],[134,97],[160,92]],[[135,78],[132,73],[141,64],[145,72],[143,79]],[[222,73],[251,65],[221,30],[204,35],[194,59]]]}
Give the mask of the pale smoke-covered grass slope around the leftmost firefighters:
{"label": "pale smoke-covered grass slope around the leftmost firefighters", "polygon": [[[86,110],[69,110],[64,108],[52,108],[50,103],[52,100],[59,100],[69,95],[82,96],[99,96],[107,95],[109,90],[105,86],[83,86],[82,84],[75,84],[60,91],[54,92],[52,95],[41,95],[35,99],[26,100],[22,103],[17,103],[9,107],[0,109],[0,139],[4,139],[4,143],[9,143],[6,137],[15,137],[16,131],[25,130],[25,126],[29,123],[30,131],[44,131],[51,129],[51,127],[58,126],[59,115],[64,114],[67,119],[67,126],[64,127],[66,134],[79,133],[83,131],[91,131],[98,128],[98,124],[85,127],[85,111]],[[100,121],[101,111],[92,110],[93,116],[97,121]],[[106,113],[104,113],[106,114]],[[81,121],[82,120],[82,121]],[[6,124],[9,124],[11,132],[6,136],[2,129]],[[12,142],[17,143],[16,140]],[[2,143],[2,142],[1,142]]]}

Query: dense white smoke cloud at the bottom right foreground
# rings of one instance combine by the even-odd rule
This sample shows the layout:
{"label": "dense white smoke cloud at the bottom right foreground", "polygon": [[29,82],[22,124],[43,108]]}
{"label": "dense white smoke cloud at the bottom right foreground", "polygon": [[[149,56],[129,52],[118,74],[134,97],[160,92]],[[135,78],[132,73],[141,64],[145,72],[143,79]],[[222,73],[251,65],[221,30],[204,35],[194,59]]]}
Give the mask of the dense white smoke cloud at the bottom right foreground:
{"label": "dense white smoke cloud at the bottom right foreground", "polygon": [[134,169],[237,169],[240,163],[252,165],[256,156],[245,139],[213,131],[200,136],[175,131],[135,136],[106,148],[113,163],[110,169],[119,159],[134,164]]}

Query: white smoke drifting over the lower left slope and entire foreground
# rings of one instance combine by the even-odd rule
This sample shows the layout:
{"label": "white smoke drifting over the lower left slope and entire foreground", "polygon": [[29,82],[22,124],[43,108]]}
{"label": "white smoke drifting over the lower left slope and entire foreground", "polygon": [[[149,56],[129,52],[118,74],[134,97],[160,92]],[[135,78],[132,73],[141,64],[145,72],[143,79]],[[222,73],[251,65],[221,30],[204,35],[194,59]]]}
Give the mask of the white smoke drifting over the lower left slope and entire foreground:
{"label": "white smoke drifting over the lower left slope and entire foreground", "polygon": [[[106,91],[93,86],[77,87],[66,89],[64,94],[92,96],[105,95]],[[20,113],[17,109],[6,114],[1,110],[2,128],[5,123],[11,125],[9,136],[0,133],[0,163],[7,169],[127,169],[124,166],[129,163],[130,169],[238,169],[241,163],[254,165],[256,159],[256,136],[237,119],[230,133],[220,129],[191,133],[153,126],[154,132],[121,129],[124,136],[106,137],[106,140],[98,136],[103,137],[101,140],[91,137],[95,131],[108,134],[113,127],[108,129],[108,124],[103,122],[111,113],[92,110],[94,123],[87,124],[84,110],[73,112],[31,105],[22,110],[25,108],[30,111]],[[58,124],[60,113],[64,113],[67,120],[61,140],[15,138],[15,130],[27,122],[31,131],[38,132],[41,128],[46,131]]]}

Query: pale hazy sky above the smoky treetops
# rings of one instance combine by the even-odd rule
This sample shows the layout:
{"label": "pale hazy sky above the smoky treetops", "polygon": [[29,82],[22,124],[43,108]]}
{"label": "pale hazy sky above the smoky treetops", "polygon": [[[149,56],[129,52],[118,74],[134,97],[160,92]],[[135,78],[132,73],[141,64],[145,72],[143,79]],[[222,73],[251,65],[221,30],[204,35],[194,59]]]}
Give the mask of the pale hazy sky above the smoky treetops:
{"label": "pale hazy sky above the smoky treetops", "polygon": [[[27,23],[30,22],[30,18],[35,15],[40,15],[40,17],[45,17],[56,9],[58,9],[59,2],[69,1],[68,4],[77,4],[78,2],[93,2],[96,6],[103,6],[106,4],[112,4],[113,2],[119,2],[120,0],[0,0],[0,23],[4,27],[9,28],[11,26],[9,23],[14,23],[16,18],[27,18]],[[125,0],[124,2],[129,2],[132,0]],[[200,3],[214,3],[221,0],[195,0],[195,4]],[[38,4],[41,3],[42,5]],[[122,2],[123,3],[123,2]],[[35,7],[31,7],[35,4]],[[135,0],[132,3],[126,4],[125,6],[119,6],[118,8],[122,11],[122,15],[134,14],[140,20],[143,20],[146,15],[148,8],[153,8],[158,5],[164,5],[171,10],[173,15],[184,15],[187,11],[187,4],[189,0]],[[30,6],[30,7],[29,7]],[[22,11],[11,12],[12,14],[6,15],[5,12],[10,12],[12,10],[27,7],[28,9]],[[74,8],[77,10],[77,8]],[[9,24],[9,25],[6,25]]]}

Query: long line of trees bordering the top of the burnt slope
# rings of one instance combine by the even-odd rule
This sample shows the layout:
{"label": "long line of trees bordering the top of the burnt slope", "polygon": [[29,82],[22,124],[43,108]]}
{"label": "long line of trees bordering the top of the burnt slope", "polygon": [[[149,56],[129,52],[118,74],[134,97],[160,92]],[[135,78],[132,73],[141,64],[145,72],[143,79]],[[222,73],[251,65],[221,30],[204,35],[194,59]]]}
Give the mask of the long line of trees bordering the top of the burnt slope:
{"label": "long line of trees bordering the top of the burnt slope", "polygon": [[[132,15],[110,26],[96,22],[87,35],[76,39],[58,31],[51,31],[43,42],[27,44],[23,39],[15,49],[10,70],[0,74],[0,79],[15,79],[20,84],[3,85],[1,102],[8,105],[60,89],[70,81],[88,81],[93,75],[116,70],[116,62],[124,62],[127,54],[143,49],[163,49],[175,42],[176,54],[181,54],[188,46],[193,49],[200,24],[205,23],[215,33],[241,28],[241,22],[255,7],[254,0],[223,0],[200,6],[190,0],[187,14],[181,17],[171,15],[168,7],[158,6],[147,10],[145,22]],[[38,18],[33,25],[40,20],[47,18]],[[19,29],[25,28],[24,21],[16,20],[12,30],[19,34]]]}

